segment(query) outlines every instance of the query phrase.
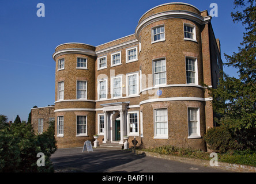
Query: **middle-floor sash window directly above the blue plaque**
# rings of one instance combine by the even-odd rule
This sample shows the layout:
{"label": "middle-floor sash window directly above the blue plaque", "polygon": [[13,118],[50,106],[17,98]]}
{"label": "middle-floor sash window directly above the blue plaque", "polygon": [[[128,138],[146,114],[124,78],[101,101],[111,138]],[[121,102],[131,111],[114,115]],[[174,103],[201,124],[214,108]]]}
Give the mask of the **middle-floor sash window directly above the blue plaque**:
{"label": "middle-floor sash window directly above the blue plaque", "polygon": [[154,84],[166,85],[166,64],[165,59],[153,61]]}

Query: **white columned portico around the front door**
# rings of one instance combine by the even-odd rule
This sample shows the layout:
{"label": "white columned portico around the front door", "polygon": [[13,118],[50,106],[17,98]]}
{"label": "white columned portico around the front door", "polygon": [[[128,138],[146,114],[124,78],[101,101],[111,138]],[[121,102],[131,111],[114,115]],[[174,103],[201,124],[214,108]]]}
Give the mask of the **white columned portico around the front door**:
{"label": "white columned portico around the front door", "polygon": [[127,106],[129,102],[101,104],[104,112],[103,143],[119,142],[123,144],[123,136],[127,135]]}

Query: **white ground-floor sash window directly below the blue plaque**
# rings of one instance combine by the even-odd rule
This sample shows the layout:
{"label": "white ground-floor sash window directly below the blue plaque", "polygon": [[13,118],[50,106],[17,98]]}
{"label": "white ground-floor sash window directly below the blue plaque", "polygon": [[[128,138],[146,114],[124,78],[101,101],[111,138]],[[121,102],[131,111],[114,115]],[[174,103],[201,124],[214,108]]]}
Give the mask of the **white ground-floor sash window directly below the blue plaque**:
{"label": "white ground-floor sash window directly below the blue plaque", "polygon": [[167,109],[154,110],[155,139],[168,139]]}

